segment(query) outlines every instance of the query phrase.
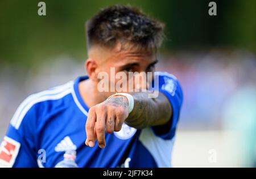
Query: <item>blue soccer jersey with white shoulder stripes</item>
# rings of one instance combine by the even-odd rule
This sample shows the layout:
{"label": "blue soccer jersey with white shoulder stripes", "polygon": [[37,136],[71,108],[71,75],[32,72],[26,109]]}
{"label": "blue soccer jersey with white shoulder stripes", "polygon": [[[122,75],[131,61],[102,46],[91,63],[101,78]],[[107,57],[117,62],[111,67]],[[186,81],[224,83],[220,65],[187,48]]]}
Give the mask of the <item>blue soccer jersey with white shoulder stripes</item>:
{"label": "blue soccer jersey with white shoulder stripes", "polygon": [[[27,97],[12,118],[0,147],[0,167],[55,167],[65,148],[76,151],[78,167],[171,167],[171,152],[183,94],[175,76],[156,73],[158,90],[172,105],[166,133],[156,127],[137,130],[125,123],[106,134],[106,147],[85,145],[88,106],[75,81]],[[90,94],[87,94],[88,97]],[[40,160],[39,160],[40,159]]]}

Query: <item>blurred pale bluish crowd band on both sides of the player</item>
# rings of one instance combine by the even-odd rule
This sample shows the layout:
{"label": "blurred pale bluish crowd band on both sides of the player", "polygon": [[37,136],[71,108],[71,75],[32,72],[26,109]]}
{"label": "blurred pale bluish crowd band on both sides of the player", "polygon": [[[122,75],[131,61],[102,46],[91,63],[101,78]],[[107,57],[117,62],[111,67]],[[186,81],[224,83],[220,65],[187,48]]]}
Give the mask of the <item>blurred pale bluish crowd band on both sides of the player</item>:
{"label": "blurred pale bluish crowd band on both sides of the player", "polygon": [[[255,54],[213,49],[162,53],[158,58],[156,70],[174,74],[183,87],[178,131],[237,131],[237,147],[244,154],[245,165],[251,166],[256,161]],[[69,57],[48,60],[30,69],[1,66],[0,138],[28,95],[85,74],[84,62]]]}

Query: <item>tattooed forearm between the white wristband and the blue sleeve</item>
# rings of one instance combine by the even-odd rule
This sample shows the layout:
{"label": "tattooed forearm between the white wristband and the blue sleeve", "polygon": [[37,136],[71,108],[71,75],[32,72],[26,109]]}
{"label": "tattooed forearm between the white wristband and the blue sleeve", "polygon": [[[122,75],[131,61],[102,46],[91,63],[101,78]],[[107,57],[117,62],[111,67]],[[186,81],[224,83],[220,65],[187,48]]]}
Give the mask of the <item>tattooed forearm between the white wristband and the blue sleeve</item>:
{"label": "tattooed forearm between the white wristband and the blue sleeve", "polygon": [[130,93],[134,97],[134,109],[125,123],[137,129],[158,126],[167,123],[172,114],[172,107],[167,97],[159,93],[156,98],[148,98],[146,92]]}

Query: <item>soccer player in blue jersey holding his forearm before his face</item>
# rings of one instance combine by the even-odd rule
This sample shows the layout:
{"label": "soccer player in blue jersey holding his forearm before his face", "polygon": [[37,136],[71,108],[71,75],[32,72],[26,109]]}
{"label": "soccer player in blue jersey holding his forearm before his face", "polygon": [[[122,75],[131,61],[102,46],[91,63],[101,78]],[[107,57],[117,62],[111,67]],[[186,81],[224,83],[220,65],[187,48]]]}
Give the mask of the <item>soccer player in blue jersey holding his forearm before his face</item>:
{"label": "soccer player in blue jersey holding his forearm before his face", "polygon": [[[20,104],[1,144],[0,166],[171,167],[183,101],[175,76],[158,72],[151,80],[158,79],[156,86],[141,78],[133,88],[139,91],[122,93],[100,90],[98,78],[112,78],[112,67],[114,75],[154,73],[163,24],[135,7],[112,6],[88,20],[86,36],[88,76]],[[159,93],[149,97],[152,92]]]}

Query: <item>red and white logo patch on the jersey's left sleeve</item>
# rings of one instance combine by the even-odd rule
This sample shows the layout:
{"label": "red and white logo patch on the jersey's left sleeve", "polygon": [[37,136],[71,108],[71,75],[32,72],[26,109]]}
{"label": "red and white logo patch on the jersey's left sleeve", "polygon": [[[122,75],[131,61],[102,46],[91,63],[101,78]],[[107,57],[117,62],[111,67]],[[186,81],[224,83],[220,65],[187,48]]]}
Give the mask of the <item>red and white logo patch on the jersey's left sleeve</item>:
{"label": "red and white logo patch on the jersey's left sleeve", "polygon": [[19,148],[19,142],[7,136],[4,137],[0,146],[0,167],[13,167]]}

